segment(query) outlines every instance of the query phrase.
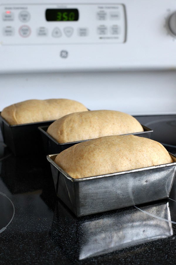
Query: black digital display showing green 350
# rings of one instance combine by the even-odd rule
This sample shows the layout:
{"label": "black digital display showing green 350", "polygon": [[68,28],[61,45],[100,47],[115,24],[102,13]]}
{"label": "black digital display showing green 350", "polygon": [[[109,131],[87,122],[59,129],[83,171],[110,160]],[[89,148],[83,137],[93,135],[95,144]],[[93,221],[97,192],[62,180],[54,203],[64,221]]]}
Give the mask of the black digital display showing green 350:
{"label": "black digital display showing green 350", "polygon": [[77,21],[78,9],[46,9],[47,21]]}

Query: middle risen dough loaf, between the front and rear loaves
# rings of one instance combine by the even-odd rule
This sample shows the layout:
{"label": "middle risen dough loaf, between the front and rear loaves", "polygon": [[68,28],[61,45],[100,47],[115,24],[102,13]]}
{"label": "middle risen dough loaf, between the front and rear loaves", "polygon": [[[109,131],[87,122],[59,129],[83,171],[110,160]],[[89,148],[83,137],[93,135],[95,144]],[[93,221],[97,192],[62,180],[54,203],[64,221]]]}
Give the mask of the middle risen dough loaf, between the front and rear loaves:
{"label": "middle risen dough loaf, between the front and rear loaves", "polygon": [[58,143],[69,143],[143,132],[143,127],[129,114],[116,110],[92,110],[66,115],[53,122],[47,132]]}

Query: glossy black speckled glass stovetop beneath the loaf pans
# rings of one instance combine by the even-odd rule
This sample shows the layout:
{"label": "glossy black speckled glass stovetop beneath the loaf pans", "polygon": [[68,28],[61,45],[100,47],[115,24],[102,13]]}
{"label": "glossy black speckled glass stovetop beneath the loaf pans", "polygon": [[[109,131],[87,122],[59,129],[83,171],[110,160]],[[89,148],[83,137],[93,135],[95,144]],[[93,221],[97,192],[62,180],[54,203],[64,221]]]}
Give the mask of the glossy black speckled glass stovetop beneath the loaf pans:
{"label": "glossy black speckled glass stovetop beneath the loaf pans", "polygon": [[[176,154],[176,115],[136,118]],[[0,264],[175,264],[175,209],[176,179],[166,200],[76,218],[45,156],[0,142]]]}

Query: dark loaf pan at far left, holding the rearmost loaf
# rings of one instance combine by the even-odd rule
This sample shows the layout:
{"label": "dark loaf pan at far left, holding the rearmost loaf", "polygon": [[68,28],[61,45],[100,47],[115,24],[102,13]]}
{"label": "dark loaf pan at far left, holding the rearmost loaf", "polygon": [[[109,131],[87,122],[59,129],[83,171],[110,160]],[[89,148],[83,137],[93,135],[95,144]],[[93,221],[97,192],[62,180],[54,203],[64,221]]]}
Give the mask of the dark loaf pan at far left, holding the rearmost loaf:
{"label": "dark loaf pan at far left, holding the rearmost loaf", "polygon": [[16,156],[22,156],[24,152],[28,155],[40,154],[41,150],[43,150],[43,141],[38,131],[38,126],[49,126],[52,122],[54,122],[54,120],[9,125],[0,115],[0,127],[4,143]]}

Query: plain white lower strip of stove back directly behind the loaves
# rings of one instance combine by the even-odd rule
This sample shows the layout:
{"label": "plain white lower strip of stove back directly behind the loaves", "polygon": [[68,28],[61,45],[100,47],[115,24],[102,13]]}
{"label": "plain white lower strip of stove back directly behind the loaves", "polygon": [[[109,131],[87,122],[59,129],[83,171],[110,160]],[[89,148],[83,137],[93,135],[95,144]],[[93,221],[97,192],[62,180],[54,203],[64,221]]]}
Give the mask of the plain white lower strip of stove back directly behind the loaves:
{"label": "plain white lower strip of stove back directly behind the loaves", "polygon": [[68,98],[90,110],[131,115],[176,113],[176,72],[82,72],[0,75],[0,110],[27,99]]}

